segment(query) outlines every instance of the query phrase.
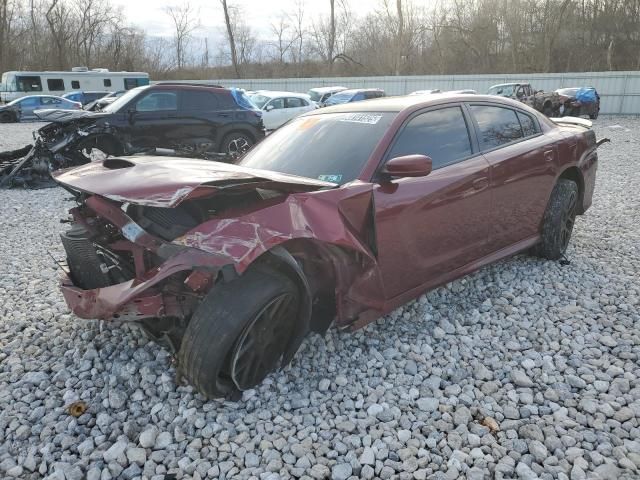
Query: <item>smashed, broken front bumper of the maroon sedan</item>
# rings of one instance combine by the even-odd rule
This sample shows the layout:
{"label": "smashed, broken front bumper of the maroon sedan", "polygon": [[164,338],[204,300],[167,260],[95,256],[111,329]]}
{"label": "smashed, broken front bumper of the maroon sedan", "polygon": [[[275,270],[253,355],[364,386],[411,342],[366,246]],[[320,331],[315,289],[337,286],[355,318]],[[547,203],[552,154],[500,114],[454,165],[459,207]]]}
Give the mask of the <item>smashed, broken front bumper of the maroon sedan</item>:
{"label": "smashed, broken front bumper of the maroon sedan", "polygon": [[[117,202],[93,196],[85,204],[122,232],[125,240],[119,240],[111,247],[132,253],[136,278],[85,290],[77,286],[70,272],[65,270],[60,288],[67,305],[78,317],[121,321],[154,317],[185,318],[215,282],[221,270],[229,271],[231,275],[235,273],[230,258],[176,245],[149,234]],[[88,230],[92,228],[77,208],[72,209],[71,213],[76,222]],[[146,269],[145,250],[156,254],[163,262]],[[167,285],[168,280],[173,280],[170,286]]]}

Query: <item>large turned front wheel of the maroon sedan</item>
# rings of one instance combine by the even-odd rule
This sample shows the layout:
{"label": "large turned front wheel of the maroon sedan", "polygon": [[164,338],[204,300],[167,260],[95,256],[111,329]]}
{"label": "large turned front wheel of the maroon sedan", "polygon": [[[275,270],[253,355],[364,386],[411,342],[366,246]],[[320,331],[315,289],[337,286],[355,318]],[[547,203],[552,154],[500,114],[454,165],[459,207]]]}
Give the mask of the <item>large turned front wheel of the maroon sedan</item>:
{"label": "large turned front wheel of the maroon sedan", "polygon": [[[280,365],[300,305],[295,283],[273,270],[250,269],[214,286],[186,328],[180,374],[208,398],[237,398]],[[245,367],[257,361],[251,374]]]}

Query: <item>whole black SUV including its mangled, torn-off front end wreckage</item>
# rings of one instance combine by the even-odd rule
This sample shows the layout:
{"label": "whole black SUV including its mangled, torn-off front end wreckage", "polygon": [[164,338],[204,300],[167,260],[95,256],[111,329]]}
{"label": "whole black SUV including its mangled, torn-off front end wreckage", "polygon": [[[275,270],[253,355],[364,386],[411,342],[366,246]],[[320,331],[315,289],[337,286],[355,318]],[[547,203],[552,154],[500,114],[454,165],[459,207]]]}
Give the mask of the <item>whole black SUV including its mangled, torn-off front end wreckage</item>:
{"label": "whole black SUV including its mangled, torn-off front end wreckage", "polygon": [[208,85],[138,87],[99,112],[48,109],[36,115],[50,123],[38,130],[32,147],[0,153],[0,186],[47,186],[59,168],[158,148],[234,158],[265,135],[262,112],[242,92]]}

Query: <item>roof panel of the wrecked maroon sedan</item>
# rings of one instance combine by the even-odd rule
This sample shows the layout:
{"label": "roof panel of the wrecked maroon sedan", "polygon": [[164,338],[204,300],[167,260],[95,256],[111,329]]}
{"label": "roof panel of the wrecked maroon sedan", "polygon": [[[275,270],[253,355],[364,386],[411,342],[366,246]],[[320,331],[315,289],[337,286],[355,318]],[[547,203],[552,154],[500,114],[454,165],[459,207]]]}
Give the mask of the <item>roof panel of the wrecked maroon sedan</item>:
{"label": "roof panel of the wrecked maroon sedan", "polygon": [[475,95],[459,93],[434,93],[431,95],[404,95],[399,97],[384,97],[361,102],[343,103],[320,110],[315,110],[311,114],[342,113],[342,112],[400,112],[407,108],[429,107],[446,102],[491,102],[504,103],[510,106],[522,107],[521,102],[508,98],[496,97],[495,95]]}

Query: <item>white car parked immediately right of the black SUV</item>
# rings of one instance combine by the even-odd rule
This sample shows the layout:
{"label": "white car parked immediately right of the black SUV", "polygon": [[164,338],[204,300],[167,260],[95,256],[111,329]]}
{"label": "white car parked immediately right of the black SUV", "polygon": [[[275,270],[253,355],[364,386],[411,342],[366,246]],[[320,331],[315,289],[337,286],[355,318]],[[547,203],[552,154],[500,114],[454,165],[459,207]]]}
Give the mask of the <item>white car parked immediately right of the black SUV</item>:
{"label": "white car parked immediately right of the black SUV", "polygon": [[260,90],[249,98],[262,110],[262,121],[267,130],[275,130],[292,118],[318,108],[304,93]]}

